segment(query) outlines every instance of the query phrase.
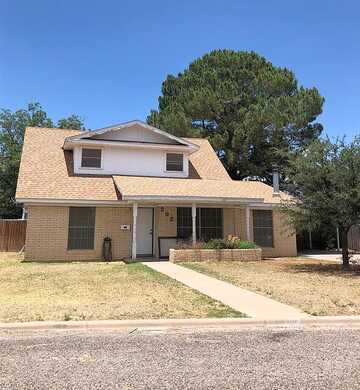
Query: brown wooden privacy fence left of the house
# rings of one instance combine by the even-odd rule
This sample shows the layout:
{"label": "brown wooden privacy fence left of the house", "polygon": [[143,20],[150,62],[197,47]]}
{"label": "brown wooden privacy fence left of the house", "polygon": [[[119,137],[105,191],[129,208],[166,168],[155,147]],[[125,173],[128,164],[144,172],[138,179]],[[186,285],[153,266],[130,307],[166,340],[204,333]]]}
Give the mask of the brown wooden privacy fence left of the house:
{"label": "brown wooden privacy fence left of the house", "polygon": [[16,252],[25,245],[26,221],[0,219],[0,252]]}

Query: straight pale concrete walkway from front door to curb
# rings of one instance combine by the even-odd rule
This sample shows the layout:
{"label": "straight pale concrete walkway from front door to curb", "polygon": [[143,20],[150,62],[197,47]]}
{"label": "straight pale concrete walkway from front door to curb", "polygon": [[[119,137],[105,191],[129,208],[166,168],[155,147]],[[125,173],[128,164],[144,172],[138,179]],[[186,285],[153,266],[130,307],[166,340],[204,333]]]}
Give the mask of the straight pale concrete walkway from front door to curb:
{"label": "straight pale concrete walkway from front door to curb", "polygon": [[309,317],[291,306],[177,264],[160,261],[143,264],[256,319],[290,320]]}

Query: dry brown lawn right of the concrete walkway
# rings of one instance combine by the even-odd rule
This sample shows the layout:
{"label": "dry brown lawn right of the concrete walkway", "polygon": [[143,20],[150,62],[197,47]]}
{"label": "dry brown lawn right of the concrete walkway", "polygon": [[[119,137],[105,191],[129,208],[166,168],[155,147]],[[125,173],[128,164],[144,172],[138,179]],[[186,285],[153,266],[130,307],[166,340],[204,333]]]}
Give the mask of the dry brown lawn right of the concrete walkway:
{"label": "dry brown lawn right of the concrete walkway", "polygon": [[182,265],[296,306],[312,315],[360,314],[360,266],[310,259]]}

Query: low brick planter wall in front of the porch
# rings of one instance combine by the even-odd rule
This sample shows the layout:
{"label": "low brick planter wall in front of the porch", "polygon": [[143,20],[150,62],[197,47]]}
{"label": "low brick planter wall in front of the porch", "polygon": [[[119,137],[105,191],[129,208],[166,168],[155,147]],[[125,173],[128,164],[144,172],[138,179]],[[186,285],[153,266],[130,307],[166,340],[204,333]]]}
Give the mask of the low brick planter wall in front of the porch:
{"label": "low brick planter wall in front of the porch", "polygon": [[181,261],[258,261],[261,249],[170,249],[172,263]]}

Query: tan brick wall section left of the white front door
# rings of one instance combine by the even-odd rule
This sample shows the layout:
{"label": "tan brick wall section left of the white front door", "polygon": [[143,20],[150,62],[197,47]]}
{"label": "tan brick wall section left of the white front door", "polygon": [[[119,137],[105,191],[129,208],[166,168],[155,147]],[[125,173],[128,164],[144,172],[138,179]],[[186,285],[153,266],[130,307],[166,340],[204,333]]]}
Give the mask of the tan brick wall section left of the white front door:
{"label": "tan brick wall section left of the white front door", "polygon": [[94,250],[67,250],[69,208],[62,206],[29,206],[25,260],[81,261],[100,260],[102,243],[112,238],[114,259],[131,254],[131,230],[120,230],[122,224],[132,224],[131,208],[97,207]]}

